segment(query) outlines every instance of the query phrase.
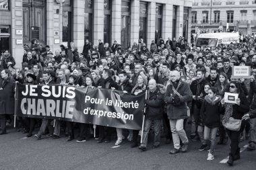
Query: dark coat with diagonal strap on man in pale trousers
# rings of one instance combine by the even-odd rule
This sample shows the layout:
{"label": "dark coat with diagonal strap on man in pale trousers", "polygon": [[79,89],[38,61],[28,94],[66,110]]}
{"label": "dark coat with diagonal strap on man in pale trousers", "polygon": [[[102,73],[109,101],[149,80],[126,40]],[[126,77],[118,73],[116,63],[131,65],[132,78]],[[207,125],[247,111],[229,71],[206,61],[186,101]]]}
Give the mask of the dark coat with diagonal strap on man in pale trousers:
{"label": "dark coat with diagonal strap on man in pale trousers", "polygon": [[185,119],[187,118],[187,102],[192,100],[192,93],[189,88],[189,84],[183,81],[179,81],[176,89],[181,95],[181,105],[172,104],[172,96],[174,91],[172,90],[172,82],[167,86],[166,93],[164,95],[164,101],[166,102],[167,116],[169,119]]}

